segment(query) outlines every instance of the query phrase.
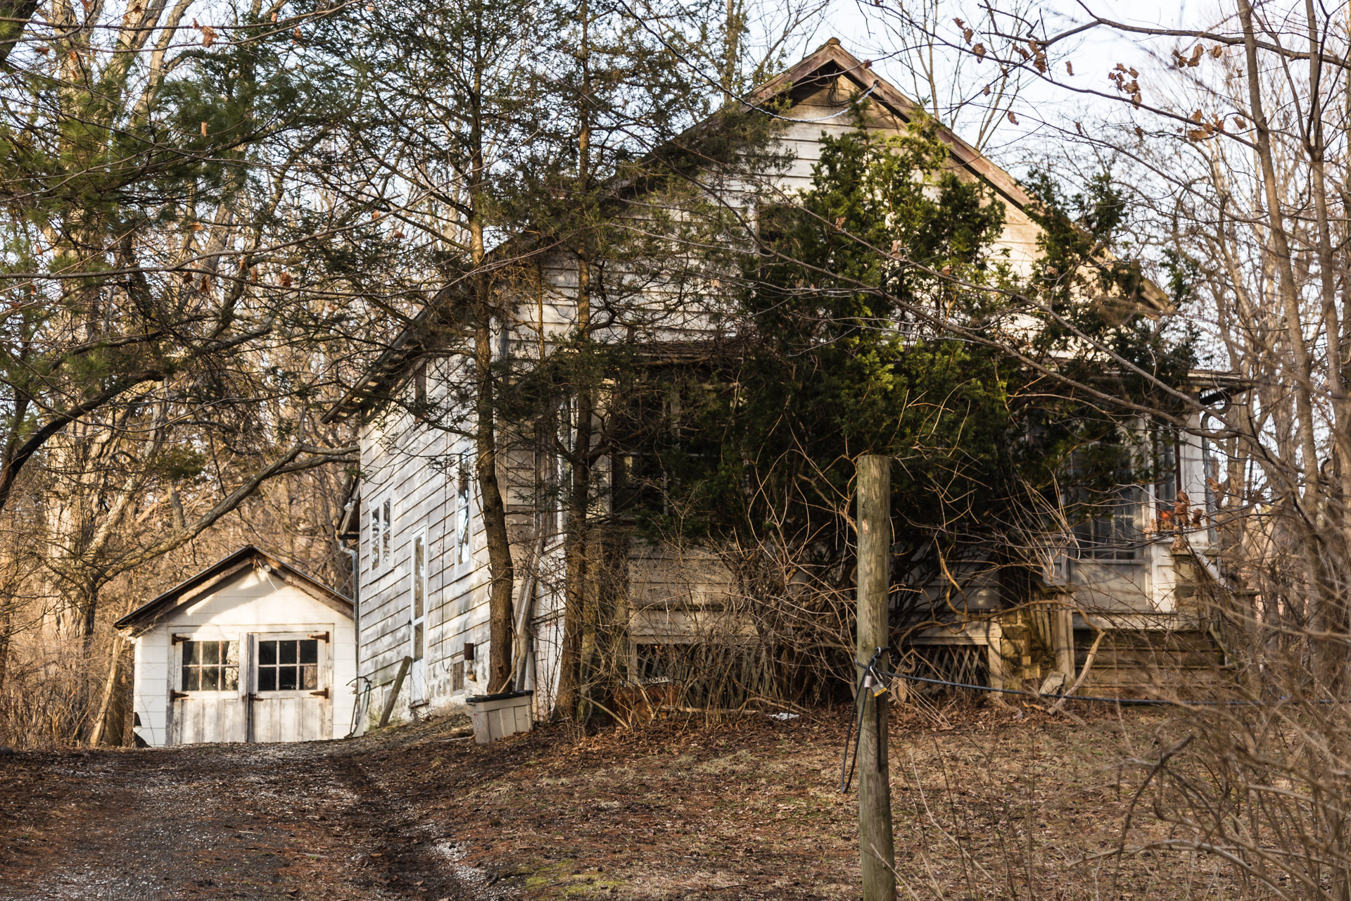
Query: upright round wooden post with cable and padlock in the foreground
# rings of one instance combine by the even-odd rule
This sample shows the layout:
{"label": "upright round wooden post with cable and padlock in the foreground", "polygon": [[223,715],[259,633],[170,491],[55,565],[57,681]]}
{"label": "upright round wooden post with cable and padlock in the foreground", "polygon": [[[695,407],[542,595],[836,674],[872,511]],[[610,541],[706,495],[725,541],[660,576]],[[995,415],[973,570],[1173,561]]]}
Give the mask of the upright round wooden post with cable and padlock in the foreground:
{"label": "upright round wooden post with cable and padlock in the foreground", "polygon": [[[892,575],[892,458],[858,458],[858,657],[890,647],[886,594]],[[886,694],[863,688],[858,733],[858,843],[863,901],[894,901],[892,774],[886,754]]]}

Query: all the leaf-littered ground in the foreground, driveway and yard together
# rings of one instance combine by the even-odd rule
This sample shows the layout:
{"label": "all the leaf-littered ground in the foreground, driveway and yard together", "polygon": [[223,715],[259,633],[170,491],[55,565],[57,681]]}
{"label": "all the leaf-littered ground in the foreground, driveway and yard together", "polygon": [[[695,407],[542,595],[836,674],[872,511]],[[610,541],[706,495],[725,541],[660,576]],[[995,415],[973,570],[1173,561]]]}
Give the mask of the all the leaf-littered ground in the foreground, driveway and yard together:
{"label": "all the leaf-littered ground in the foreground, driveway and yard together", "polygon": [[[1182,721],[1081,716],[897,711],[901,898],[1252,897],[1215,856],[1142,850],[1166,827],[1158,781],[1140,789]],[[0,758],[0,898],[852,900],[847,723],[676,716],[478,747],[461,717],[332,743],[18,752]]]}

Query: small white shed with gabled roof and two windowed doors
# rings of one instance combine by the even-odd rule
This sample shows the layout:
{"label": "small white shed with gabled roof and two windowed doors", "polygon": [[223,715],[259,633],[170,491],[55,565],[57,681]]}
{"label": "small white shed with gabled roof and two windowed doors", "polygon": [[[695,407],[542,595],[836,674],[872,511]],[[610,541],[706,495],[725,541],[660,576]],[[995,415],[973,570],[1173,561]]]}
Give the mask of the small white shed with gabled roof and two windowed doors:
{"label": "small white shed with gabled roof and two windowed doors", "polygon": [[150,746],[347,735],[353,605],[246,546],[118,620],[135,644],[136,733]]}

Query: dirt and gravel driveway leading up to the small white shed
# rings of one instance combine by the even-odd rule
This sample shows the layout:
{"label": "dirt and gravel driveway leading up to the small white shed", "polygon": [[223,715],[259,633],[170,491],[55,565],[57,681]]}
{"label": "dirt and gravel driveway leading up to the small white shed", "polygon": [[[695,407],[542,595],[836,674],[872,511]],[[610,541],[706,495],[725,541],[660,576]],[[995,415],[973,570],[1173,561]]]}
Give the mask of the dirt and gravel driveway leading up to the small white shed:
{"label": "dirt and gravel driveway leading up to the small white shed", "polygon": [[492,894],[361,746],[0,758],[0,901]]}

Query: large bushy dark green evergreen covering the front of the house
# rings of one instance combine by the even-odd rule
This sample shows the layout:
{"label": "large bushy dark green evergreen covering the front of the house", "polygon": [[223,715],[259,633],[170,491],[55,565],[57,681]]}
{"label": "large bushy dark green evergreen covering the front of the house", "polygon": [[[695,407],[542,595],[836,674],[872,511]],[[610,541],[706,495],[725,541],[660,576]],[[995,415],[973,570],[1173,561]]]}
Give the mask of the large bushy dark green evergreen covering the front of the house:
{"label": "large bushy dark green evergreen covering the front of the house", "polygon": [[[1112,182],[1069,203],[1048,185],[1034,184],[1040,257],[1019,274],[996,246],[1004,203],[954,173],[931,123],[823,135],[800,203],[761,211],[742,354],[688,373],[678,427],[651,440],[666,486],[640,513],[653,534],[786,550],[839,597],[854,459],[889,454],[902,582],[967,559],[1025,585],[1054,519],[1121,478],[1131,403],[1159,400],[1097,347],[1174,385],[1193,361],[1190,336],[1142,307],[1140,267],[1105,253],[1123,226]],[[817,627],[847,619],[827,608]]]}

